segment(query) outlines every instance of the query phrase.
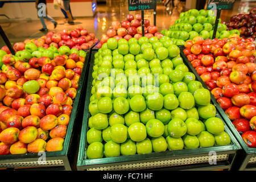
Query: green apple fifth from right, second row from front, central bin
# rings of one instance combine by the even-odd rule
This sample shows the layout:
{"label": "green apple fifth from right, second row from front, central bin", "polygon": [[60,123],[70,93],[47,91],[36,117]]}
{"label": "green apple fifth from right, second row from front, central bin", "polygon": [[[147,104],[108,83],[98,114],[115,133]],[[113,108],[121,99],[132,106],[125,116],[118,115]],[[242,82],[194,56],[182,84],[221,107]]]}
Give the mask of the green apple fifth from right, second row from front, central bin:
{"label": "green apple fifth from right, second row from front, central bin", "polygon": [[141,122],[131,124],[128,128],[128,133],[134,142],[141,142],[147,137],[146,127]]}

